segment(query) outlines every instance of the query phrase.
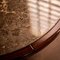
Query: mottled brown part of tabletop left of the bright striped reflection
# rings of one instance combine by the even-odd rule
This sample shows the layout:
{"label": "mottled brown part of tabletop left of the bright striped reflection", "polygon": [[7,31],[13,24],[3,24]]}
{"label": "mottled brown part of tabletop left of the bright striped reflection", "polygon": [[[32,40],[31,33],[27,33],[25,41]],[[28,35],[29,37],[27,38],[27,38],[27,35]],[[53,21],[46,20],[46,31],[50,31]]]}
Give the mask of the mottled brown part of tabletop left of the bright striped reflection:
{"label": "mottled brown part of tabletop left of the bright striped reflection", "polygon": [[0,2],[0,55],[21,49],[40,37],[40,35],[34,36],[30,31],[27,1],[2,0]]}

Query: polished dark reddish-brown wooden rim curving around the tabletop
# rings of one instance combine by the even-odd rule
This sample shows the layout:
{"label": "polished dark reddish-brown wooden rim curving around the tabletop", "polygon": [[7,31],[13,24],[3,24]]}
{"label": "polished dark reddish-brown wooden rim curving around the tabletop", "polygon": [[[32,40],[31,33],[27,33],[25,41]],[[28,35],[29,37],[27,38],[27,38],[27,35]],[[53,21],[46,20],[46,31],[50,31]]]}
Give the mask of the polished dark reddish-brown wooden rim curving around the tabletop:
{"label": "polished dark reddish-brown wooden rim curving around the tabletop", "polygon": [[29,54],[36,53],[36,52],[40,51],[41,49],[43,49],[44,47],[46,47],[50,42],[52,42],[59,33],[60,33],[60,19],[41,38],[39,38],[32,44],[30,44],[20,50],[0,56],[0,59],[1,60],[11,60],[11,59],[14,59],[17,57],[23,57],[23,56],[27,56]]}

